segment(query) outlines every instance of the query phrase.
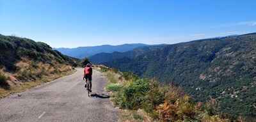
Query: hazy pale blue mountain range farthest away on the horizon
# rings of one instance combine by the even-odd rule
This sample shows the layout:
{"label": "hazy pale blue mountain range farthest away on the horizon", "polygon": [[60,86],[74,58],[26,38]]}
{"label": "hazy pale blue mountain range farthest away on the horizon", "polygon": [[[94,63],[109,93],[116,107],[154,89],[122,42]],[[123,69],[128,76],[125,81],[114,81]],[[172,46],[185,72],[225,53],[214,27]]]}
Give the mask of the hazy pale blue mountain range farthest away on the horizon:
{"label": "hazy pale blue mountain range farthest away on the horizon", "polygon": [[77,57],[79,59],[83,59],[84,57],[90,57],[99,53],[111,53],[111,52],[126,52],[129,50],[133,50],[138,47],[146,47],[149,45],[143,43],[132,43],[132,44],[124,44],[124,45],[101,45],[101,46],[93,46],[93,47],[77,47],[77,48],[56,48],[56,50],[61,53],[71,56]]}

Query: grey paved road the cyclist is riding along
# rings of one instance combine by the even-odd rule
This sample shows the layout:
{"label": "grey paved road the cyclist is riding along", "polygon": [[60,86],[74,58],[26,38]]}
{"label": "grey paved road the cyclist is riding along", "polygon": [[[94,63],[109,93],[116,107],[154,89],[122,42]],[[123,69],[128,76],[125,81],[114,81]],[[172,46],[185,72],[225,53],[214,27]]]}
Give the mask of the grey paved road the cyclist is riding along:
{"label": "grey paved road the cyclist is riding along", "polygon": [[[108,98],[88,97],[83,69],[67,77],[0,100],[0,122],[117,121],[117,110]],[[101,95],[106,78],[93,71],[93,93]]]}

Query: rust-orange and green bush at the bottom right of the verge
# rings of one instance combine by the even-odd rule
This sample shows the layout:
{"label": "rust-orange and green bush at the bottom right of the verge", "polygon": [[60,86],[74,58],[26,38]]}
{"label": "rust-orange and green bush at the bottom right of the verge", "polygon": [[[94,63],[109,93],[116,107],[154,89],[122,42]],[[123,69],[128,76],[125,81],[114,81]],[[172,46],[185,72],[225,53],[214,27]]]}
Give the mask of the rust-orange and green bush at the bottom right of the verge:
{"label": "rust-orange and green bush at the bottom right of the verge", "polygon": [[188,95],[179,93],[180,89],[175,89],[166,93],[164,103],[157,106],[159,119],[161,121],[202,121],[202,122],[228,122],[212,110],[215,100],[209,103],[194,103]]}

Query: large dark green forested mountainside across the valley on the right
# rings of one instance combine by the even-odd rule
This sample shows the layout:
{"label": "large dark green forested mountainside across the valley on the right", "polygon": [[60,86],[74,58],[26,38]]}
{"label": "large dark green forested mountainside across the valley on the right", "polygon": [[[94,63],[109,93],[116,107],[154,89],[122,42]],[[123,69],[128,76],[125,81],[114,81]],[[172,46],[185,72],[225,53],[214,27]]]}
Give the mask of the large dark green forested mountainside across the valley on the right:
{"label": "large dark green forested mountainside across the valley on the right", "polygon": [[196,101],[215,98],[234,118],[256,116],[256,33],[166,45],[104,65],[177,84]]}

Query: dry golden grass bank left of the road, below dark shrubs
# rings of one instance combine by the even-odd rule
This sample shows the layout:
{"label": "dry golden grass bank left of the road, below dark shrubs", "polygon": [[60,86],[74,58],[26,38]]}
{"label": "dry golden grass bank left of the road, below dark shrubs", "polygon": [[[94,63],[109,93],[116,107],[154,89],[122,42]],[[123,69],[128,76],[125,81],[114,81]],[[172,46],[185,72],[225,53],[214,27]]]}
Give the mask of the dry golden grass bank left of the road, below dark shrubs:
{"label": "dry golden grass bank left of the road, below dark shrubs", "polygon": [[54,62],[51,64],[22,59],[15,64],[17,72],[0,70],[0,98],[13,93],[26,91],[44,82],[70,75],[76,70],[70,65]]}

